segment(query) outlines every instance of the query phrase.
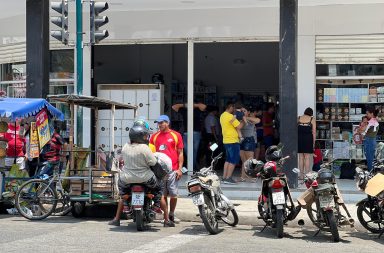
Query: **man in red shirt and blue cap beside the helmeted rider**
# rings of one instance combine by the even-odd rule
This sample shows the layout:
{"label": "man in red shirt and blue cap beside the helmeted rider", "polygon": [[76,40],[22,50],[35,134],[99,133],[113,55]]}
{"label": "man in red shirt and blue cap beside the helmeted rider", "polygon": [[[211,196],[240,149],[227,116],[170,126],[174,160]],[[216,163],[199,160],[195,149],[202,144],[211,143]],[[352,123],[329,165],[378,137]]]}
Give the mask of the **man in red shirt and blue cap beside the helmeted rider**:
{"label": "man in red shirt and blue cap beside the helmeted rider", "polygon": [[[160,115],[155,123],[158,124],[159,131],[151,136],[149,143],[156,147],[157,152],[168,155],[172,160],[173,172],[168,175],[166,180],[164,180],[163,198],[165,198],[166,203],[168,203],[167,197],[170,197],[169,220],[174,222],[178,183],[182,176],[181,169],[184,163],[183,138],[179,132],[170,129],[170,120],[167,115]],[[167,215],[168,213],[168,204],[166,206],[166,210],[163,210],[164,215]]]}

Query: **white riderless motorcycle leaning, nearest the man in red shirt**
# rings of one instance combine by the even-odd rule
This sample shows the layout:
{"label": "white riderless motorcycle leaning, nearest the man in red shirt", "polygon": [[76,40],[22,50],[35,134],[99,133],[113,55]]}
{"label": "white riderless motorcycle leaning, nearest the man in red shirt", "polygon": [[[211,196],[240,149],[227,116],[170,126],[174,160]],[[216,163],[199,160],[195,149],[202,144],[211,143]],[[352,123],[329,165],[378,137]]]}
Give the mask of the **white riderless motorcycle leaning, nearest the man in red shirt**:
{"label": "white riderless motorcycle leaning, nearest the man in red shirt", "polygon": [[208,168],[202,168],[187,182],[189,196],[192,197],[193,204],[198,207],[199,216],[210,234],[219,232],[220,220],[232,227],[239,222],[235,206],[223,194],[220,178],[214,170],[221,157],[222,153],[213,158]]}

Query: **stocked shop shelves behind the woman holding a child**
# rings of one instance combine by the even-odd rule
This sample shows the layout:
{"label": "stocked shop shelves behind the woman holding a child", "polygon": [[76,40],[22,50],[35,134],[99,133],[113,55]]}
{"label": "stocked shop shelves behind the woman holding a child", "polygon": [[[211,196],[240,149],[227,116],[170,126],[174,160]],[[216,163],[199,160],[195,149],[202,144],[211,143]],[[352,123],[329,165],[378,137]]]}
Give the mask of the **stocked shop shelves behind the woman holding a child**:
{"label": "stocked shop shelves behind the woman holding a child", "polygon": [[359,124],[372,106],[379,111],[378,141],[384,139],[384,81],[316,85],[316,140],[332,159],[365,159]]}

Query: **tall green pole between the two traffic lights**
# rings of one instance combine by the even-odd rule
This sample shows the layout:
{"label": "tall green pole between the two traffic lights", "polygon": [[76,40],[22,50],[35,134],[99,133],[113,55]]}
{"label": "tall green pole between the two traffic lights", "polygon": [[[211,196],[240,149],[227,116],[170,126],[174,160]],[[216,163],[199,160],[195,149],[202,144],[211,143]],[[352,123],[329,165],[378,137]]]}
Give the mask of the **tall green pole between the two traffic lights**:
{"label": "tall green pole between the two traffic lights", "polygon": [[[83,94],[83,0],[76,0],[76,91]],[[77,110],[77,145],[83,144],[83,109]]]}

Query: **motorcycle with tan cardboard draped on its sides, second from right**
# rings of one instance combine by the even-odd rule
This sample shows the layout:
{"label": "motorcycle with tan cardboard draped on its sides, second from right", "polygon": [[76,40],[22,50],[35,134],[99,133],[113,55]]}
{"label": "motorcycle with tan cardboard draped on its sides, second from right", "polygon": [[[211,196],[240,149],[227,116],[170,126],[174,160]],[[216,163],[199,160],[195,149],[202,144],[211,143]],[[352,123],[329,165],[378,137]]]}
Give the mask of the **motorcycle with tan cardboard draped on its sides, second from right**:
{"label": "motorcycle with tan cardboard draped on its sides, second from right", "polygon": [[[338,226],[354,226],[348,209],[342,199],[341,193],[337,188],[335,176],[329,167],[334,161],[323,163],[318,172],[307,173],[304,183],[307,190],[298,198],[299,205],[307,210],[312,223],[319,228],[316,235],[321,230],[331,232],[333,241],[340,241]],[[341,214],[340,206],[347,213],[348,219]],[[303,220],[299,220],[299,225],[304,225]]]}

